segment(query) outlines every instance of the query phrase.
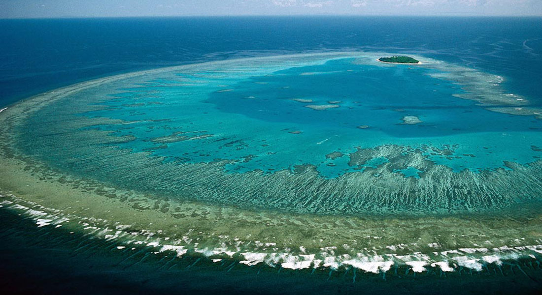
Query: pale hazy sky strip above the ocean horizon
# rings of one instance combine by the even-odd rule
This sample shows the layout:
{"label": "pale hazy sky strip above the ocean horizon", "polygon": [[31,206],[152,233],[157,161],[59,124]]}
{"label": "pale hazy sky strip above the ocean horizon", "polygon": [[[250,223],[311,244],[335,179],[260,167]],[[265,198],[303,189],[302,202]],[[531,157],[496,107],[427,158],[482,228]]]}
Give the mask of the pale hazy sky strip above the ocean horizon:
{"label": "pale hazy sky strip above the ocean horizon", "polygon": [[542,0],[0,0],[0,18],[212,15],[542,16]]}

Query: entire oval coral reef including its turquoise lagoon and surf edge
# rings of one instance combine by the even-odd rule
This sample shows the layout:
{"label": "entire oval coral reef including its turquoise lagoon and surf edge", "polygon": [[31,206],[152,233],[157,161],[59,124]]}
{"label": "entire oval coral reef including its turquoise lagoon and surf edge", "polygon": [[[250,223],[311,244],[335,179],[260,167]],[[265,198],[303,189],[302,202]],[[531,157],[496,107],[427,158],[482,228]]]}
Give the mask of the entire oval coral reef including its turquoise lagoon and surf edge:
{"label": "entire oval coral reef including its turquoise lagoon and surf edge", "polygon": [[[31,97],[0,114],[0,206],[119,250],[216,264],[446,273],[524,259],[535,269],[542,136],[530,128],[540,123],[486,109],[528,100],[423,57],[402,69],[398,93],[417,89],[413,98],[370,90],[371,76],[396,73],[376,55],[186,65]],[[311,93],[329,75],[339,82]],[[347,87],[359,81],[369,90]],[[340,97],[340,108],[291,97],[334,107],[325,103]]]}

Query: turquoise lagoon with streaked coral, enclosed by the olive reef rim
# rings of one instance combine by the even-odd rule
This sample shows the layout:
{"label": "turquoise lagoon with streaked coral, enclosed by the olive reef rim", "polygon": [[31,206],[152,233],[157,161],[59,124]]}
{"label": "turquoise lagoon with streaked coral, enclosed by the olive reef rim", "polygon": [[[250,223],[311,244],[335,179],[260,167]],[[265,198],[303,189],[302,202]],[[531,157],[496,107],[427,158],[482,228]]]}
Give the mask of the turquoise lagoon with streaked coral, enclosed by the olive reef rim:
{"label": "turquoise lagoon with streaked coral, enclosed by the olive reef rim", "polygon": [[[383,64],[380,55],[390,54],[253,58],[127,76],[40,109],[18,138],[24,153],[70,173],[245,208],[423,215],[538,202],[538,186],[509,192],[538,169],[536,108],[500,76],[423,56],[420,65]],[[143,158],[118,154],[127,152]],[[152,172],[147,161],[156,162]],[[433,178],[444,181],[441,193]],[[299,183],[311,189],[300,192]],[[390,195],[389,207],[374,201]]]}

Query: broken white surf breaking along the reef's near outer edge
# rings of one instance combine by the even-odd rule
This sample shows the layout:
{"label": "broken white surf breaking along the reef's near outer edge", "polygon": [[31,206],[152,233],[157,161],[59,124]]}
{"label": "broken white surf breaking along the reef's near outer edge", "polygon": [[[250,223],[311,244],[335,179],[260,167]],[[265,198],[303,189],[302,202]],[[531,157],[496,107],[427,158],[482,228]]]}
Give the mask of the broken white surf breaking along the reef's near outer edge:
{"label": "broken white surf breaking along the reef's near outer edge", "polygon": [[[3,205],[10,205],[10,208],[14,209],[21,209],[24,210],[25,215],[30,215],[31,217],[34,217],[34,220],[36,221],[36,224],[38,227],[47,226],[50,224],[59,225],[62,222],[67,222],[69,219],[66,217],[63,217],[60,214],[55,213],[54,215],[48,214],[46,212],[50,212],[47,210],[47,208],[44,207],[38,207],[37,204],[30,204],[24,203],[25,205],[28,205],[29,207],[25,207],[18,204],[13,204],[11,201],[4,200],[0,202],[0,204]],[[13,205],[12,205],[13,204]],[[37,208],[42,209],[43,211],[38,211],[31,208]],[[70,218],[72,218],[72,215],[67,215]],[[76,219],[74,219],[76,220]],[[92,221],[93,225],[94,222],[98,223],[103,222],[102,219],[93,219],[93,218],[86,218],[83,220],[87,220],[89,222]],[[104,227],[96,227],[96,226],[90,226],[88,223],[83,221],[78,221],[78,224],[85,227],[85,229],[91,229],[91,232],[95,235],[100,235],[101,237],[105,237],[106,239],[115,239],[122,237],[124,235],[128,235],[124,230],[125,228],[128,228],[130,226],[115,226],[112,228],[104,228]],[[115,230],[115,228],[117,230]],[[114,232],[114,234],[113,234]],[[160,231],[158,231],[159,233]],[[150,231],[144,231],[141,230],[138,233],[134,233],[134,235],[145,235],[146,240],[133,240],[131,243],[133,244],[145,244],[149,247],[158,247],[159,251],[155,253],[160,253],[164,251],[175,251],[177,255],[180,257],[188,252],[188,249],[185,249],[184,247],[193,248],[193,246],[197,246],[198,243],[193,244],[193,246],[180,246],[179,244],[183,244],[181,240],[177,241],[169,241],[174,245],[163,245],[160,244],[160,240],[156,237],[151,238],[154,233]],[[228,238],[226,236],[222,236],[222,238]],[[166,238],[167,240],[167,238]],[[183,241],[190,243],[192,240],[188,237],[183,237]],[[239,238],[235,238],[237,240],[237,245],[242,244],[242,241],[239,240]],[[522,240],[525,240],[524,238],[515,239],[514,241],[517,241],[518,243]],[[537,240],[537,242],[542,242],[541,240]],[[245,242],[243,245],[248,246],[251,242]],[[237,248],[237,251],[231,251],[230,248],[227,247],[227,245],[231,245],[229,242],[222,242],[221,247],[216,248],[195,248],[194,250],[199,253],[203,253],[205,256],[209,258],[212,255],[216,254],[227,254],[229,257],[233,257],[234,254],[241,252],[240,248]],[[270,242],[260,242],[260,241],[254,241],[254,244],[256,246],[261,247],[263,245],[265,246],[275,246],[275,243]],[[253,245],[254,245],[253,244]],[[489,241],[486,241],[486,244],[490,244]],[[414,245],[414,244],[410,244]],[[438,248],[442,247],[442,245],[437,243],[431,243],[427,244],[431,248]],[[479,246],[474,244],[474,246]],[[385,248],[389,250],[396,250],[398,248],[408,248],[410,246],[407,246],[405,244],[397,244],[392,246],[385,246]],[[119,250],[124,249],[125,246],[118,246]],[[346,250],[349,250],[349,245],[343,245],[343,248]],[[318,254],[309,254],[307,252],[307,249],[303,246],[299,247],[299,250],[301,252],[304,252],[305,254],[291,254],[290,251],[292,249],[290,248],[284,248],[284,251],[282,253],[250,253],[250,252],[244,252],[240,253],[242,257],[244,257],[244,260],[241,260],[241,264],[245,265],[256,265],[260,263],[265,263],[269,266],[281,266],[282,268],[289,268],[292,270],[300,270],[300,269],[306,269],[306,268],[318,268],[321,266],[331,268],[333,270],[336,270],[343,267],[352,266],[359,270],[365,271],[365,272],[371,272],[371,273],[380,273],[380,272],[388,272],[391,267],[394,264],[404,264],[411,267],[412,271],[414,272],[424,272],[427,271],[426,267],[430,264],[431,267],[440,267],[440,269],[444,272],[452,272],[456,269],[456,267],[462,266],[466,268],[470,268],[472,270],[481,271],[483,268],[483,265],[485,264],[492,264],[495,263],[497,265],[501,265],[502,261],[505,259],[518,259],[520,257],[526,257],[527,255],[531,258],[536,259],[535,255],[536,253],[542,253],[542,245],[527,245],[527,246],[500,246],[500,247],[494,247],[491,249],[488,248],[458,248],[457,250],[448,250],[448,251],[442,251],[442,252],[433,252],[433,254],[428,253],[431,255],[431,258],[428,256],[428,254],[421,253],[421,252],[414,252],[407,255],[397,255],[397,254],[383,254],[383,255],[377,255],[377,251],[379,249],[372,247],[372,248],[364,248],[363,253],[358,253],[356,255],[352,254],[344,254],[344,255],[335,255],[334,250],[336,250],[337,247],[335,246],[328,246],[328,247],[322,247],[320,250],[324,251]],[[256,250],[256,249],[254,249]],[[353,249],[352,249],[353,250]],[[250,251],[250,250],[249,250]],[[279,251],[274,250],[274,251]],[[533,254],[529,254],[529,252]],[[356,253],[356,252],[353,252]],[[370,255],[369,253],[374,253],[374,255]],[[481,254],[483,253],[483,254]],[[481,254],[481,255],[480,255]],[[483,256],[482,256],[483,255]],[[319,259],[316,259],[318,256]],[[211,259],[214,263],[218,261],[222,261],[222,259]],[[450,261],[450,262],[449,262]],[[452,262],[453,261],[453,262]]]}

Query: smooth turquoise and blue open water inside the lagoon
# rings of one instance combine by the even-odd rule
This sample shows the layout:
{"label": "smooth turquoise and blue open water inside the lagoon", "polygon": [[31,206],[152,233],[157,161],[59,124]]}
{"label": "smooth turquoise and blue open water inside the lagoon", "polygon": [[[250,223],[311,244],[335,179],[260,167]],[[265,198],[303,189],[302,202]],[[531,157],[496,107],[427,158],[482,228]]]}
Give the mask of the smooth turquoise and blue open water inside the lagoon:
{"label": "smooth turquoise and blue open water inside the lagoon", "polygon": [[[491,112],[475,101],[452,96],[465,90],[454,81],[429,76],[435,71],[339,58],[248,73],[179,73],[119,89],[105,102],[107,109],[85,115],[136,121],[120,128],[100,127],[137,137],[123,148],[152,150],[177,162],[235,160],[225,166],[233,173],[315,165],[322,176],[334,178],[375,166],[373,160],[349,165],[347,154],[388,144],[453,146],[448,155],[425,154],[455,172],[538,159],[541,153],[531,146],[542,146],[539,120]],[[338,107],[314,110],[307,105]],[[402,124],[404,116],[417,116],[422,122]],[[358,128],[364,125],[368,128]],[[191,140],[156,140],[172,134]],[[514,142],[513,149],[509,142]],[[326,157],[333,152],[343,156]],[[397,173],[423,173],[412,169]]]}

